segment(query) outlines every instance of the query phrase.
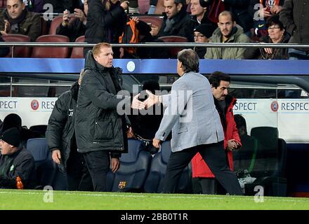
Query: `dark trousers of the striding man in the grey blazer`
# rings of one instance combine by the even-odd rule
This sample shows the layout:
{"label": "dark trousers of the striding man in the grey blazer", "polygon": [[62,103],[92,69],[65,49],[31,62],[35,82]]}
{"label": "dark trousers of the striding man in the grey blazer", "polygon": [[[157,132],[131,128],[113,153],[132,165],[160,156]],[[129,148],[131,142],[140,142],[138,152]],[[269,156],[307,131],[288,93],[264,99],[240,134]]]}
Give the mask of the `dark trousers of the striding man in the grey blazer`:
{"label": "dark trousers of the striding man in the grey blazer", "polygon": [[197,152],[202,155],[211,172],[230,195],[242,195],[242,188],[239,186],[236,175],[230,171],[226,164],[223,141],[216,144],[194,146],[171,153],[166,167],[164,193],[176,192],[183,169],[188,166]]}

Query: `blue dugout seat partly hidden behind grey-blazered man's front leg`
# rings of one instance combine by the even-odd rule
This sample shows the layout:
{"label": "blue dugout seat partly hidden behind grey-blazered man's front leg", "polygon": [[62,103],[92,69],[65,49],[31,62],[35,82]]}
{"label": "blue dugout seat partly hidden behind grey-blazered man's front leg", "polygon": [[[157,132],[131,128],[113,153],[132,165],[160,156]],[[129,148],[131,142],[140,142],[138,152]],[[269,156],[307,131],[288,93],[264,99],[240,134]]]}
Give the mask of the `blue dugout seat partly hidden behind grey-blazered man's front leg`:
{"label": "blue dugout seat partly hidden behind grey-blazered man's front leg", "polygon": [[[171,155],[171,141],[164,141],[161,151],[152,158],[150,172],[145,182],[146,193],[162,193],[166,165]],[[181,174],[176,193],[192,193],[192,169],[188,165]]]}

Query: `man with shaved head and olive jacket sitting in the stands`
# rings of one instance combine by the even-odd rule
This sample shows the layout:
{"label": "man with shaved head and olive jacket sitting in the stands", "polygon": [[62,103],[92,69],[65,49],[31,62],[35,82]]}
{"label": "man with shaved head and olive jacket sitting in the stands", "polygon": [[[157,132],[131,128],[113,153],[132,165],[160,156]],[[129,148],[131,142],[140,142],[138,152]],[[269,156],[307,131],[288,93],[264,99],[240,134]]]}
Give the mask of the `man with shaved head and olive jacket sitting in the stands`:
{"label": "man with shaved head and olive jacket sitting in the stands", "polygon": [[[249,37],[244,34],[242,27],[236,24],[229,11],[219,15],[218,28],[213,32],[212,43],[248,43]],[[208,48],[206,59],[243,59],[246,48]]]}

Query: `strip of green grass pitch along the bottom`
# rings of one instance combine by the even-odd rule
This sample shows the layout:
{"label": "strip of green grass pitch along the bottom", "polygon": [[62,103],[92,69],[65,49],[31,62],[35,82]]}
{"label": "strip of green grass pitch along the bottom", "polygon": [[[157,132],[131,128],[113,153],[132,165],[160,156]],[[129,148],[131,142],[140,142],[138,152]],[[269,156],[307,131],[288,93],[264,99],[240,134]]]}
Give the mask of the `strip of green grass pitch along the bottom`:
{"label": "strip of green grass pitch along the bottom", "polygon": [[[44,202],[45,201],[45,202]],[[258,201],[258,202],[256,202]],[[223,195],[0,190],[0,209],[309,209],[309,199]]]}

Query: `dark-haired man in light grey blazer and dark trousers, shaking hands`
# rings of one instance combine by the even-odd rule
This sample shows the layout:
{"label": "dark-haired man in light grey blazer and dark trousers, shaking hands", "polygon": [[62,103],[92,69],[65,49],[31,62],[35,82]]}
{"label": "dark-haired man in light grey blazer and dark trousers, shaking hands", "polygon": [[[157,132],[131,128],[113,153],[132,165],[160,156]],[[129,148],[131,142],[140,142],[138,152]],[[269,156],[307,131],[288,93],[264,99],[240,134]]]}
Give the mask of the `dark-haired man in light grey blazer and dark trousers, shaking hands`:
{"label": "dark-haired man in light grey blazer and dark trousers, shaking hands", "polygon": [[156,96],[148,91],[145,101],[147,107],[159,102],[167,106],[152,140],[153,146],[159,148],[172,131],[164,193],[175,193],[181,172],[200,153],[225,190],[231,195],[242,195],[237,178],[226,162],[223,128],[213,104],[211,85],[198,73],[199,56],[194,50],[178,52],[177,72],[180,78],[173,83],[171,94]]}

